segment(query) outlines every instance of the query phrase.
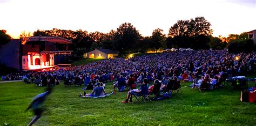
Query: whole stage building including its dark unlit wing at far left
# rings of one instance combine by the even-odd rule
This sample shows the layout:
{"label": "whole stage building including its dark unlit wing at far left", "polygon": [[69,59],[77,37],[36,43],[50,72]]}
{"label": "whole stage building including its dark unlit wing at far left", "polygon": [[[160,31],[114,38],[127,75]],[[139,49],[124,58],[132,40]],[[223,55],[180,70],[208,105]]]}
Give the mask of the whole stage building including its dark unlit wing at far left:
{"label": "whole stage building including its dark unlit wing at far left", "polygon": [[19,71],[53,68],[70,55],[72,41],[57,36],[32,36],[15,39],[2,47],[0,63]]}

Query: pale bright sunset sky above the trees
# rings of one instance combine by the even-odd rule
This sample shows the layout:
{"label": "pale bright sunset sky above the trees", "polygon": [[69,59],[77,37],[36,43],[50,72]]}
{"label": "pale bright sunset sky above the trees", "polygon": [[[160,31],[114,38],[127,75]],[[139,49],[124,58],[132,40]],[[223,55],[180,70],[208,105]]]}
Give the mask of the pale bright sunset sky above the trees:
{"label": "pale bright sunset sky above the trees", "polygon": [[213,36],[256,29],[256,0],[0,0],[0,12],[0,29],[12,38],[52,28],[107,33],[122,23],[143,36],[168,34],[177,20],[195,17],[210,21]]}

